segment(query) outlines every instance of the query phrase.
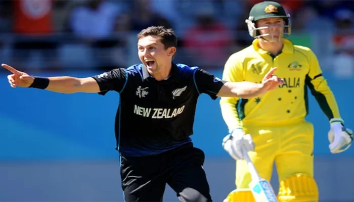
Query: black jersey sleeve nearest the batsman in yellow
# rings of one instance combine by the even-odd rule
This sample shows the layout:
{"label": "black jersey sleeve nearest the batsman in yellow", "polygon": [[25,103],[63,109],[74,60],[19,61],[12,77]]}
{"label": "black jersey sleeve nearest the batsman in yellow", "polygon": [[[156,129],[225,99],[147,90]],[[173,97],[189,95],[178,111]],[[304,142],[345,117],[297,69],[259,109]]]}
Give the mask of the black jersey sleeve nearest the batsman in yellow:
{"label": "black jersey sleeve nearest the batsman in yellow", "polygon": [[223,87],[226,81],[223,81],[209,72],[197,69],[194,76],[194,81],[199,93],[206,93],[212,99],[216,99],[216,94]]}

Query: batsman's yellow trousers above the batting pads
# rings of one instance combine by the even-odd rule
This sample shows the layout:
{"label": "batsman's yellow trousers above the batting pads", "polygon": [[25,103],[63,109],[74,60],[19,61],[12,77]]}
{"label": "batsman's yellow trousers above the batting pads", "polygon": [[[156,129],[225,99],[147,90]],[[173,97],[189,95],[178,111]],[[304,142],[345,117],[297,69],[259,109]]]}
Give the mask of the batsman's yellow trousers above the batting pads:
{"label": "batsman's yellow trousers above the batting pads", "polygon": [[[255,143],[255,151],[249,152],[259,175],[271,180],[275,162],[279,181],[303,173],[314,177],[314,128],[307,121],[261,126],[243,123],[246,134]],[[249,188],[251,175],[245,161],[236,161],[236,187]]]}

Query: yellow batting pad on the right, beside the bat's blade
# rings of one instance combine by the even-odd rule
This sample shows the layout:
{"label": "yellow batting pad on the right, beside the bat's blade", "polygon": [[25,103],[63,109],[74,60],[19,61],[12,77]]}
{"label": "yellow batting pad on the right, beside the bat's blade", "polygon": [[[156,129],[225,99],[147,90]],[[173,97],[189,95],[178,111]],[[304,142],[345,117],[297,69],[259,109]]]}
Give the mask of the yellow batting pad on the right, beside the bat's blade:
{"label": "yellow batting pad on the right, beside the bat's blade", "polygon": [[281,202],[318,201],[317,183],[306,174],[291,175],[280,182],[278,199]]}

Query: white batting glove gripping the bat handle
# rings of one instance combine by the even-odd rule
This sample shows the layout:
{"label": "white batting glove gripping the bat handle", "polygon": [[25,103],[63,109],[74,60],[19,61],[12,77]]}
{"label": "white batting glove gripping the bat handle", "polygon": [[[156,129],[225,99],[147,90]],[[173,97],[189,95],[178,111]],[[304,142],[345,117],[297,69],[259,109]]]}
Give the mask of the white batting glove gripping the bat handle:
{"label": "white batting glove gripping the bat handle", "polygon": [[244,146],[248,151],[254,151],[254,142],[250,134],[245,134],[241,128],[234,129],[230,135],[223,139],[223,147],[235,160],[242,160],[241,147]]}

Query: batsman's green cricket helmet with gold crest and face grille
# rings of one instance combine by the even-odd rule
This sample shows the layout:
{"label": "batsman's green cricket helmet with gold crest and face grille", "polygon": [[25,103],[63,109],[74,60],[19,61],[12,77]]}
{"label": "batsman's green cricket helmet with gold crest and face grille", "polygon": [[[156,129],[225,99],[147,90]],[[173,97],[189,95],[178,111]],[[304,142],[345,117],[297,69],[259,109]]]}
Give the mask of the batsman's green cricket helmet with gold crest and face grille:
{"label": "batsman's green cricket helmet with gold crest and face grille", "polygon": [[256,27],[255,22],[257,20],[265,19],[265,18],[283,18],[285,21],[284,36],[290,35],[291,33],[290,14],[287,14],[285,12],[283,6],[277,2],[261,2],[255,4],[252,7],[251,11],[249,12],[249,17],[246,20],[248,33],[250,36],[252,36],[253,38],[258,38],[263,36],[269,36],[272,34],[272,33],[260,34],[259,30],[267,29],[269,28],[268,26]]}

